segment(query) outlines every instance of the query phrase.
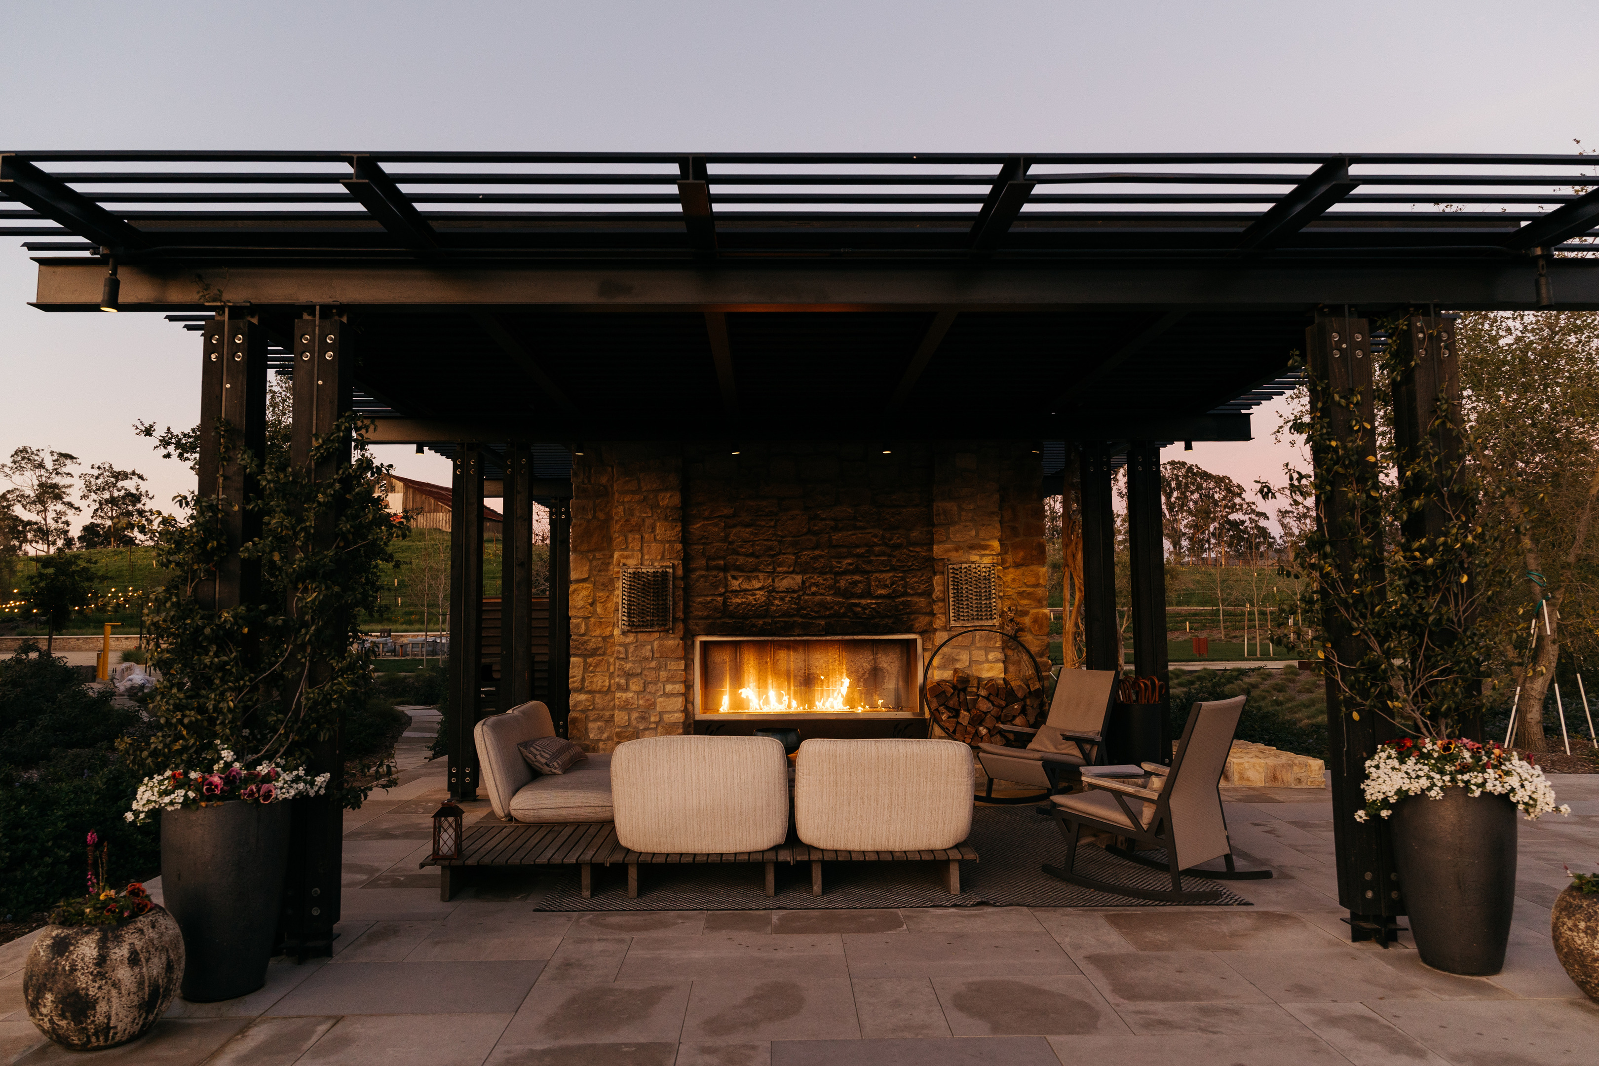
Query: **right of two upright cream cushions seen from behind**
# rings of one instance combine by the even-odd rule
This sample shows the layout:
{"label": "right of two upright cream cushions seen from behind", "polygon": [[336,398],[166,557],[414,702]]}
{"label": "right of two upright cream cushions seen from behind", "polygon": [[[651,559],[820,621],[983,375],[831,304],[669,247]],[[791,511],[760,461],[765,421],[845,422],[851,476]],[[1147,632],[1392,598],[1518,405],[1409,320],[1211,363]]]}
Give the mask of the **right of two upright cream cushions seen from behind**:
{"label": "right of two upright cream cushions seen from behind", "polygon": [[806,740],[795,829],[836,852],[932,852],[972,828],[972,750],[955,740]]}

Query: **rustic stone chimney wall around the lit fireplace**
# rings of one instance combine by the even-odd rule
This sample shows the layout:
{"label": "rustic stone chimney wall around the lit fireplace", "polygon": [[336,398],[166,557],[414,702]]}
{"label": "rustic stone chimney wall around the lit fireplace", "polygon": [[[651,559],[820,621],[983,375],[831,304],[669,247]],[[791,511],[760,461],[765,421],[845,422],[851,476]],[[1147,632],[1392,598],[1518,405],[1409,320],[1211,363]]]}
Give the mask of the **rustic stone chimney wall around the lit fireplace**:
{"label": "rustic stone chimney wall around the lit fireplace", "polygon": [[[1047,671],[1031,444],[585,444],[572,463],[569,735],[609,751],[683,732],[700,634],[916,633],[929,654],[948,634],[943,564],[975,559],[1001,566],[1004,620]],[[619,631],[630,564],[676,569],[668,631]],[[1022,665],[998,636],[963,642],[951,665]]]}

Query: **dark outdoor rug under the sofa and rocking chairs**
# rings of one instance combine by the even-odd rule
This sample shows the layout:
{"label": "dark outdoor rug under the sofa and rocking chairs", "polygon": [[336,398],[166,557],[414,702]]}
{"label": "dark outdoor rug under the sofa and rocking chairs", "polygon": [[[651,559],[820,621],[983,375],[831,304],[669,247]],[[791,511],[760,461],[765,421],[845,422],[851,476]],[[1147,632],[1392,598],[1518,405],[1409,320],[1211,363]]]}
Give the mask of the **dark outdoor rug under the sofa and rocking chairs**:
{"label": "dark outdoor rug under the sofa and rocking chairs", "polygon": [[[1154,903],[1094,892],[1039,866],[1059,865],[1067,853],[1054,820],[1035,807],[983,807],[972,815],[967,844],[980,861],[961,863],[961,895],[943,889],[943,863],[823,863],[822,895],[811,895],[809,863],[777,863],[777,895],[763,892],[760,863],[648,865],[638,868],[638,898],[627,898],[627,866],[595,866],[593,898],[579,889],[577,869],[566,868],[555,887],[534,901],[539,911],[814,911],[900,906],[1193,906]],[[1162,858],[1159,852],[1151,858]],[[1166,873],[1078,849],[1078,869],[1089,877],[1140,889],[1170,889]],[[1222,889],[1212,906],[1250,906],[1226,882],[1183,877],[1183,889]]]}

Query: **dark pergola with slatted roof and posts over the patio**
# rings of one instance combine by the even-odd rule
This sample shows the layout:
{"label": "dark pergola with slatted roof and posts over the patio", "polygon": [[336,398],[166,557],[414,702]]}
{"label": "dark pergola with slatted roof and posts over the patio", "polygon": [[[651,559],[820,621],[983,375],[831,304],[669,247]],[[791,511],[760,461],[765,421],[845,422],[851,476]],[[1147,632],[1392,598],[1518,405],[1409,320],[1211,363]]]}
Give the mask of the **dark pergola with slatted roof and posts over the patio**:
{"label": "dark pergola with slatted roof and posts over the patio", "polygon": [[[453,790],[472,794],[477,714],[531,695],[526,559],[518,572],[512,550],[497,694],[475,668],[480,614],[462,606],[481,585],[470,516],[484,494],[505,499],[508,545],[528,500],[552,508],[563,678],[582,441],[1065,441],[1039,452],[1057,486],[1068,451],[1081,457],[1089,665],[1118,662],[1111,473],[1126,463],[1137,671],[1164,676],[1159,446],[1249,440],[1249,409],[1298,384],[1295,355],[1313,385],[1361,388],[1374,318],[1599,308],[1599,261],[1573,254],[1599,222],[1599,192],[1581,190],[1591,168],[1425,153],[6,152],[0,233],[37,253],[42,310],[166,313],[200,331],[205,427],[221,416],[259,440],[277,369],[294,376],[302,441],[353,406],[371,441],[454,459],[454,706],[480,710],[448,729]],[[1453,363],[1425,355],[1438,372],[1412,393],[1430,411]],[[1351,443],[1358,422],[1340,427]],[[201,484],[238,497],[216,447],[208,433]],[[248,595],[240,582],[224,575],[219,607]],[[560,719],[566,694],[545,695]],[[1346,721],[1335,694],[1329,724],[1342,903],[1356,937],[1385,937],[1404,908],[1372,889],[1393,879],[1383,829],[1350,818],[1382,726]],[[302,951],[326,948],[337,921],[337,812],[323,821],[302,829],[289,892]]]}

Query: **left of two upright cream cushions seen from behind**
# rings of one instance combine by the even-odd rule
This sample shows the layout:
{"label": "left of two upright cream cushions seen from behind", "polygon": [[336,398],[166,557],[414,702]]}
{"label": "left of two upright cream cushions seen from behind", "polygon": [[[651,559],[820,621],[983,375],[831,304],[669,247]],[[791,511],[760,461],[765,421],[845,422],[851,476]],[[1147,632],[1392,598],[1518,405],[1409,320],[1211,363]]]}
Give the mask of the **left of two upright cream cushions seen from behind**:
{"label": "left of two upright cream cushions seen from behind", "polygon": [[788,758],[772,737],[648,737],[611,759],[616,839],[635,852],[764,852],[788,836]]}

